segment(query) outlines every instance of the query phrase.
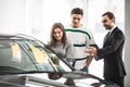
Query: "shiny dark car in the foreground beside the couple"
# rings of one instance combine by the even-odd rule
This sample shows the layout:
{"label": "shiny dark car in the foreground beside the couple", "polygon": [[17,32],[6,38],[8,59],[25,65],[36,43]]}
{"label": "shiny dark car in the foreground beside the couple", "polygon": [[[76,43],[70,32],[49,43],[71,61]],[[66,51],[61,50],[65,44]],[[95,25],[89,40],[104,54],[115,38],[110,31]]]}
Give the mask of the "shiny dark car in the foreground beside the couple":
{"label": "shiny dark car in the foreground beside the couple", "polygon": [[0,87],[119,87],[61,58],[25,35],[0,35]]}

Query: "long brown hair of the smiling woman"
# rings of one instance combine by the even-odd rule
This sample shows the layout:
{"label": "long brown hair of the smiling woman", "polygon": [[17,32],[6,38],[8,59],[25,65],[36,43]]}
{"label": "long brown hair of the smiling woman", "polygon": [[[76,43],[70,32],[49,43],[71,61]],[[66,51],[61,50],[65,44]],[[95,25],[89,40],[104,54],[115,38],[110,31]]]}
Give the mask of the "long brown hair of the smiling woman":
{"label": "long brown hair of the smiling woman", "polygon": [[52,29],[51,29],[51,35],[50,35],[50,44],[49,46],[50,47],[54,47],[56,45],[56,39],[54,38],[54,29],[55,28],[60,28],[62,32],[63,32],[63,37],[62,37],[62,44],[66,45],[67,42],[67,38],[66,38],[66,33],[65,33],[65,27],[62,23],[54,23],[53,26],[52,26]]}

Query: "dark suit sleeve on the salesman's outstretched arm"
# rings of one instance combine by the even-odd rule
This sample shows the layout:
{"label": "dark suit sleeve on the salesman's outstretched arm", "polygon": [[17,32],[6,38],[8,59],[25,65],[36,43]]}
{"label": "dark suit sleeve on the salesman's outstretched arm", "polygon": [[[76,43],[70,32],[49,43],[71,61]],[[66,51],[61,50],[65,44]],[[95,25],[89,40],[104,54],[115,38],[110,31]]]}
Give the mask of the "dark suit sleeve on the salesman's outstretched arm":
{"label": "dark suit sleeve on the salesman's outstretched arm", "polygon": [[110,54],[118,50],[118,48],[125,42],[125,36],[121,30],[115,32],[110,35],[109,39],[106,44],[104,44],[103,48],[98,49],[98,55],[95,60],[103,59],[107,54]]}

